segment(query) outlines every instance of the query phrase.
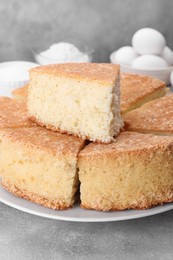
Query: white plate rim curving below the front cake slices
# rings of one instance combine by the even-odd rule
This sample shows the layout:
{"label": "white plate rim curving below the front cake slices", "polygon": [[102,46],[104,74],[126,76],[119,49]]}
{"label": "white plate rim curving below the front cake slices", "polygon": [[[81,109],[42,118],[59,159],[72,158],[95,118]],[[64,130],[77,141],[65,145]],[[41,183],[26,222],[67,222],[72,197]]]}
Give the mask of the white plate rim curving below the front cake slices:
{"label": "white plate rim curving below the front cake slices", "polygon": [[[10,199],[11,200],[10,200]],[[138,218],[144,218],[144,217],[149,217],[149,216],[154,216],[169,210],[173,210],[173,202],[168,202],[163,205],[155,206],[150,209],[145,209],[145,210],[126,210],[126,211],[112,211],[112,212],[99,212],[99,214],[103,214],[103,217],[73,217],[73,216],[66,216],[66,213],[68,213],[69,210],[75,210],[77,208],[78,210],[85,211],[85,212],[94,212],[96,214],[96,211],[93,210],[86,210],[86,209],[81,209],[78,205],[74,206],[72,209],[65,210],[65,216],[64,215],[58,215],[58,212],[63,212],[61,211],[55,211],[53,209],[48,209],[44,208],[43,206],[33,203],[31,201],[25,200],[23,198],[19,198],[4,188],[0,187],[0,202],[3,204],[10,206],[14,209],[20,210],[25,213],[29,213],[35,216],[40,216],[48,219],[54,219],[54,220],[62,220],[62,221],[71,221],[71,222],[115,222],[115,221],[124,221],[124,220],[131,220],[131,219],[138,219]],[[21,206],[20,203],[24,204],[25,206]],[[31,205],[31,208],[27,207],[28,205]],[[36,208],[34,210],[32,207]],[[40,208],[41,207],[41,208]],[[38,209],[37,209],[38,208]],[[39,208],[43,210],[43,212],[39,211]],[[45,212],[44,212],[45,211]],[[55,214],[50,214],[50,212],[53,212]],[[120,214],[118,215],[117,212]],[[122,215],[121,215],[122,213]],[[127,213],[127,214],[126,214]],[[131,214],[129,214],[131,213]],[[106,216],[109,214],[108,216]],[[116,216],[117,214],[117,216]],[[104,216],[105,215],[105,216]],[[112,215],[112,216],[111,216]]]}

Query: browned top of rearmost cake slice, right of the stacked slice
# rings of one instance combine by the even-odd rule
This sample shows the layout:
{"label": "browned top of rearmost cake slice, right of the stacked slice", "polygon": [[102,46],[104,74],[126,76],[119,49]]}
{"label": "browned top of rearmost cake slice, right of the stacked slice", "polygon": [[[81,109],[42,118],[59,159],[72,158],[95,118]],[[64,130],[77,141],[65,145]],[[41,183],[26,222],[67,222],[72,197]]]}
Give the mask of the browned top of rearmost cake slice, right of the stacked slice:
{"label": "browned top of rearmost cake slice, right of the stacked slice", "polygon": [[128,110],[147,95],[165,87],[165,82],[150,76],[121,73],[121,110]]}

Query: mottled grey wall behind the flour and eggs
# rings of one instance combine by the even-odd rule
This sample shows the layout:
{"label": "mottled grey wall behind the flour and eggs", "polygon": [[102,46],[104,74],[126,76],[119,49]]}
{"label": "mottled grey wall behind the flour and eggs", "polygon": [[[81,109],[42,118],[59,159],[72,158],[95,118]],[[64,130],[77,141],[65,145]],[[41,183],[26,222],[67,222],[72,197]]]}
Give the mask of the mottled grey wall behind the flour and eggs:
{"label": "mottled grey wall behind the flour and eggs", "polygon": [[173,48],[173,1],[0,0],[0,61],[32,60],[32,45],[73,38],[95,49],[94,61],[106,62],[146,26]]}

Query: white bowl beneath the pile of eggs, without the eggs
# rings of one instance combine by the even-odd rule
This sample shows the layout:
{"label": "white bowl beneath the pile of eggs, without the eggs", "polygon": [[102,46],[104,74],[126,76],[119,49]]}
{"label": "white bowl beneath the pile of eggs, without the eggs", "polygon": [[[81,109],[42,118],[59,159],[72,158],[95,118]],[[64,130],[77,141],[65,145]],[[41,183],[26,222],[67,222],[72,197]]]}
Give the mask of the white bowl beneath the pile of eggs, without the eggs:
{"label": "white bowl beneath the pile of eggs, without the eggs", "polygon": [[[116,61],[115,58],[113,58],[112,54],[110,55],[111,63],[119,64],[118,61]],[[159,69],[147,69],[147,68],[146,69],[135,69],[135,68],[132,68],[131,66],[124,65],[124,64],[120,64],[120,66],[121,66],[122,72],[153,76],[162,81],[165,81],[167,85],[170,84],[170,75],[171,75],[171,72],[173,71],[173,66],[169,66],[166,68],[159,68]]]}

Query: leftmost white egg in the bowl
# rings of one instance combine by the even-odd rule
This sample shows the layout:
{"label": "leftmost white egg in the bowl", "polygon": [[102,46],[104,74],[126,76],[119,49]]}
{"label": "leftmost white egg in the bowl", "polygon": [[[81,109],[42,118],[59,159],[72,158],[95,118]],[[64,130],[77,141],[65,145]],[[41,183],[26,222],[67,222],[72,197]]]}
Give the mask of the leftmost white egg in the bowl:
{"label": "leftmost white egg in the bowl", "polygon": [[132,62],[137,58],[136,51],[131,46],[121,47],[113,52],[110,56],[112,63],[120,63],[124,65],[132,65]]}

